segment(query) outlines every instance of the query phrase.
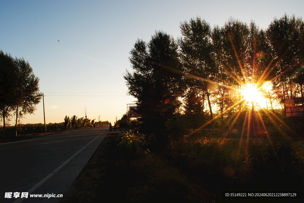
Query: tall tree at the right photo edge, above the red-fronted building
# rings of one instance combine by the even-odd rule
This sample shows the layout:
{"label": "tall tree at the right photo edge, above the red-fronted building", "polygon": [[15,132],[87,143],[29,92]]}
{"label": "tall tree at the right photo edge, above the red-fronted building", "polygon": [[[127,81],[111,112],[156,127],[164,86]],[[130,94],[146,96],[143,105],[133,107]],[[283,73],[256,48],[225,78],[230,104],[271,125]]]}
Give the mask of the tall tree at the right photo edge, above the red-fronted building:
{"label": "tall tree at the right photo edge, above the red-fronted building", "polygon": [[303,21],[286,14],[280,19],[275,18],[266,30],[266,37],[275,52],[275,62],[270,69],[270,76],[275,78],[274,86],[281,86],[288,97],[293,97],[292,85],[304,62]]}

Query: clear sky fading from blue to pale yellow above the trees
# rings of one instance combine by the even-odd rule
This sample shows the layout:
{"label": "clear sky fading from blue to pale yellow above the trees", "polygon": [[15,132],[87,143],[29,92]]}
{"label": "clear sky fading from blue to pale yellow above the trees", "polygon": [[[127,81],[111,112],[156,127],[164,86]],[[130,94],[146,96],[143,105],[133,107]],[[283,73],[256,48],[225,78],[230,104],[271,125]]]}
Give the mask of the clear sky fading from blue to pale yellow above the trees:
{"label": "clear sky fading from blue to pale yellow above the trees", "polygon": [[[266,29],[275,18],[303,17],[304,1],[0,0],[0,49],[29,61],[44,93],[46,123],[76,115],[115,122],[135,98],[123,75],[137,39],[162,30],[175,39],[196,16],[213,27],[230,18]],[[1,87],[0,87],[1,88]],[[43,123],[43,102],[21,122]],[[11,124],[15,117],[12,117]]]}

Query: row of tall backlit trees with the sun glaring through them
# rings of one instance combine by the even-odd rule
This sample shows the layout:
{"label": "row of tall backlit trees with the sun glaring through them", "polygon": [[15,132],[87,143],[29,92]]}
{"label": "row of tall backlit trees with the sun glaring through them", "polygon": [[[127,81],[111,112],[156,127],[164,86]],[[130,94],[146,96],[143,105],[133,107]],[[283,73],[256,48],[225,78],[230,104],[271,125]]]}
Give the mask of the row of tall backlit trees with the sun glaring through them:
{"label": "row of tall backlit trees with the sun glaring through them", "polygon": [[[137,40],[130,52],[133,72],[124,78],[142,115],[138,129],[155,136],[157,146],[198,127],[229,129],[227,134],[238,129],[240,136],[250,126],[244,124],[250,121],[244,86],[261,90],[271,81],[273,89],[264,91],[271,111],[261,109],[254,117],[262,120],[254,122],[257,133],[279,131],[283,117],[272,103],[303,96],[303,28],[301,18],[286,14],[266,29],[233,18],[212,28],[196,17],[181,23],[178,43],[164,32],[148,43]],[[185,129],[174,131],[174,120],[183,120]]]}

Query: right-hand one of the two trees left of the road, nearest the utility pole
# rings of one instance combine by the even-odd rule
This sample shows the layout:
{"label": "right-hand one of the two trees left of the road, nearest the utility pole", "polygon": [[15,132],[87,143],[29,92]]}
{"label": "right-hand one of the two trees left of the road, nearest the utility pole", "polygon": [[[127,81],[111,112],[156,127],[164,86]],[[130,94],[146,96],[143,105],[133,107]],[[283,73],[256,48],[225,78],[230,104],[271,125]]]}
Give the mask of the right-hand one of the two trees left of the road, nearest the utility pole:
{"label": "right-hand one of the two trees left of the road, nearest the utility pole", "polygon": [[18,117],[25,114],[32,114],[36,110],[36,105],[40,102],[43,94],[39,91],[39,78],[33,73],[33,69],[28,61],[23,58],[15,59],[16,81],[14,103],[16,109],[16,137]]}

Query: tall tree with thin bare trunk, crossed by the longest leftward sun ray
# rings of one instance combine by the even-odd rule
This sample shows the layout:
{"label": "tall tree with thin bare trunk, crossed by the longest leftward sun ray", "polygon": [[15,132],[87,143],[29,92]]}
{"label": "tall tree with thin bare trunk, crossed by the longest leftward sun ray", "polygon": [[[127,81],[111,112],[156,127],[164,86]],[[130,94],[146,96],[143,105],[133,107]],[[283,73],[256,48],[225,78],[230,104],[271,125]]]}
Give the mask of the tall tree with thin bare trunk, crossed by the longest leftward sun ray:
{"label": "tall tree with thin bare trunk, crossed by the longest leftward sun ray", "polygon": [[[210,101],[211,90],[208,85],[214,80],[216,69],[212,59],[211,28],[209,23],[199,17],[185,21],[180,25],[182,38],[180,39],[181,60],[187,73],[197,76],[188,78],[189,88],[206,93],[210,118],[213,119],[212,104]],[[212,122],[214,129],[214,122]]]}

